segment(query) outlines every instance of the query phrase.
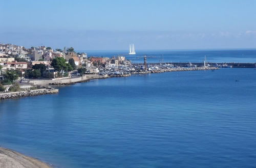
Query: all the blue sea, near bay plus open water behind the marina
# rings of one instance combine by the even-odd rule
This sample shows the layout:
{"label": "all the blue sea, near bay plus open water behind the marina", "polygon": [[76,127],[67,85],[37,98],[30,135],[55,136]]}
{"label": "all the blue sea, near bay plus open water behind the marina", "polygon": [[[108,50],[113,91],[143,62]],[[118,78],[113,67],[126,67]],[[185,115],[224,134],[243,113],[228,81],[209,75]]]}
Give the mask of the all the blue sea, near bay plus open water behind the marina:
{"label": "all the blue sea, near bay plus open water behind the marina", "polygon": [[[152,62],[256,62],[256,50],[144,52]],[[255,121],[254,68],[165,72],[2,100],[0,145],[64,168],[256,167]]]}

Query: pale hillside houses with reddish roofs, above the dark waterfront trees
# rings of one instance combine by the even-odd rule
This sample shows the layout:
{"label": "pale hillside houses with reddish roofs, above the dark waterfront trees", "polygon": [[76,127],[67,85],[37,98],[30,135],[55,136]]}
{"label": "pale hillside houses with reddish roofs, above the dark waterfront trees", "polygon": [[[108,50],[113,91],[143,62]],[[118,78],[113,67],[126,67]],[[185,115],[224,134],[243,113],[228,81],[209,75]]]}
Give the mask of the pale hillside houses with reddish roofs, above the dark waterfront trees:
{"label": "pale hillside houses with reddish roofs, above the dark waterfront trees", "polygon": [[99,73],[102,68],[111,69],[119,66],[131,66],[131,62],[126,60],[125,57],[88,57],[87,53],[76,53],[73,50],[66,50],[66,48],[54,50],[46,46],[25,48],[24,46],[13,44],[0,44],[2,72],[8,69],[19,69],[24,72],[35,64],[45,64],[47,71],[54,73],[51,61],[57,57],[62,57],[67,62],[73,59],[76,68],[86,67],[87,73]]}

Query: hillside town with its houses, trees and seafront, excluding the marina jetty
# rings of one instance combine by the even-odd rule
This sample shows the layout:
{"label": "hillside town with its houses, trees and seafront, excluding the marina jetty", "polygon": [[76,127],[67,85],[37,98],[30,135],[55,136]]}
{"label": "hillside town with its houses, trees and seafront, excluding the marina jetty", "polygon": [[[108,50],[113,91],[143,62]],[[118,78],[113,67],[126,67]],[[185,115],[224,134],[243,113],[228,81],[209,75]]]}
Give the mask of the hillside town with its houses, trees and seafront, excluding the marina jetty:
{"label": "hillside town with its houses, trees and seafront, excluding the marina jetty", "polygon": [[88,57],[87,53],[75,52],[73,47],[25,48],[0,44],[0,92],[38,87],[36,82],[30,81],[72,79],[85,74],[88,75],[87,78],[127,75],[131,72],[131,65],[125,57]]}

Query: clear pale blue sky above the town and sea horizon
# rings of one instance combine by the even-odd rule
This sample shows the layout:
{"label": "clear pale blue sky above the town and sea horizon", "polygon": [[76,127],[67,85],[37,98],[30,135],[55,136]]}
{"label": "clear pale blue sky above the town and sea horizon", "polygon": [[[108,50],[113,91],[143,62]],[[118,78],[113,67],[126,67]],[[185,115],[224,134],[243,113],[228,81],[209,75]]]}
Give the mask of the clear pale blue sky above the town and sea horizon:
{"label": "clear pale blue sky above the town and sea horizon", "polygon": [[256,48],[256,0],[0,0],[0,43],[75,50]]}

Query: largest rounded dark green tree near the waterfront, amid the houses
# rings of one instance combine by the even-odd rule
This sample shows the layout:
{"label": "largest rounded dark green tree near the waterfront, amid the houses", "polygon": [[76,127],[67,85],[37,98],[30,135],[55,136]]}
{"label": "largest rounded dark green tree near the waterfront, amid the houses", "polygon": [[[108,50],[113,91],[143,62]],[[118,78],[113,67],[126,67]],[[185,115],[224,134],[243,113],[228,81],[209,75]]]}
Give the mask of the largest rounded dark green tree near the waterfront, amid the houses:
{"label": "largest rounded dark green tree near the waterfront, amid the houses", "polygon": [[51,66],[53,66],[53,68],[58,71],[61,72],[63,74],[63,71],[72,71],[73,68],[69,63],[66,63],[66,60],[62,57],[57,57],[55,59],[52,60]]}

